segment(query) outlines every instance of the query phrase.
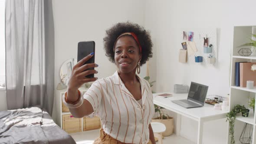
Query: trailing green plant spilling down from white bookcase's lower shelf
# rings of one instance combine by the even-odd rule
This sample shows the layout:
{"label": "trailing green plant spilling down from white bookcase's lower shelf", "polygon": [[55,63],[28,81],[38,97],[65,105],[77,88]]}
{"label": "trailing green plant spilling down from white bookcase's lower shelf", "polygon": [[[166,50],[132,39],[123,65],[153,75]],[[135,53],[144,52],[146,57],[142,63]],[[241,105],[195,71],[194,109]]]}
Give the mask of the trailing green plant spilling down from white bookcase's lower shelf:
{"label": "trailing green plant spilling down from white bookcase's lower shelf", "polygon": [[[229,121],[229,134],[230,134],[230,144],[235,144],[235,139],[234,139],[234,124],[235,124],[235,120],[236,120],[236,115],[239,113],[242,113],[243,116],[246,116],[249,111],[247,111],[247,109],[245,108],[245,106],[241,106],[241,105],[236,105],[230,112],[228,112],[226,114],[226,121]],[[248,116],[248,115],[247,115]]]}

